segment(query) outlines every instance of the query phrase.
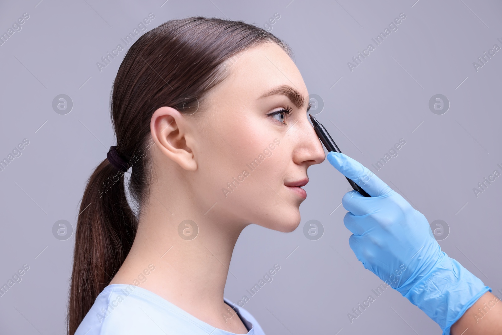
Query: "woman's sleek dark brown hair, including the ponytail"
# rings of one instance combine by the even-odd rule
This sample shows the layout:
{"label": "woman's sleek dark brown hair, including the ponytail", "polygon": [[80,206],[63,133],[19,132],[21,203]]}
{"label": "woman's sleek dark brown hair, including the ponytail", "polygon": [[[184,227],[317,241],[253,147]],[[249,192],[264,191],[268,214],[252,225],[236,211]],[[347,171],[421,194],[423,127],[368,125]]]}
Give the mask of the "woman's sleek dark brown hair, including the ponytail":
{"label": "woman's sleek dark brown hair, including the ponytail", "polygon": [[[148,201],[151,182],[150,159],[144,153],[152,140],[153,112],[162,106],[186,115],[194,108],[203,109],[205,93],[225,79],[231,57],[265,42],[276,43],[293,56],[287,44],[262,28],[204,17],[167,21],[131,46],[113,82],[110,109],[116,151],[132,166],[129,192],[140,208]],[[75,233],[70,335],[133,245],[138,218],[125,191],[123,173],[107,159],[88,179]]]}

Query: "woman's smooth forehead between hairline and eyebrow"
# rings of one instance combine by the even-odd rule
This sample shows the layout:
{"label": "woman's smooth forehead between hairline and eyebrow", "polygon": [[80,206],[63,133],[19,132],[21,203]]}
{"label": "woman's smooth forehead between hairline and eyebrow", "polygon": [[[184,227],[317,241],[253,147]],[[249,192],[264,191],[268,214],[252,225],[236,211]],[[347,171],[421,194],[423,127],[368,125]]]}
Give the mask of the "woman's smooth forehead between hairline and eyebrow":
{"label": "woman's smooth forehead between hairline and eyebrow", "polygon": [[300,71],[276,43],[248,48],[231,57],[227,66],[229,75],[221,83],[220,93],[235,94],[234,98],[258,99],[278,87],[291,86],[308,99]]}

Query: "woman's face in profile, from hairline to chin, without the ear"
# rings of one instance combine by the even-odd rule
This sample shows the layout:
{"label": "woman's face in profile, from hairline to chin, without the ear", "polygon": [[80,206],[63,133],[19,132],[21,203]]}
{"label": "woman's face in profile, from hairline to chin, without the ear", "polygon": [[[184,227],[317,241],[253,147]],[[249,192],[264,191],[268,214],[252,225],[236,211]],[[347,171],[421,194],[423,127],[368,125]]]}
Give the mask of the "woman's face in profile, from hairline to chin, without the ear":
{"label": "woman's face in profile, from hairline to chin, without the ear", "polygon": [[[192,179],[206,216],[291,232],[307,168],[324,161],[308,121],[308,91],[291,58],[275,43],[232,57],[229,76],[207,95],[192,134]],[[291,110],[286,114],[284,109]],[[279,113],[277,113],[279,112]]]}

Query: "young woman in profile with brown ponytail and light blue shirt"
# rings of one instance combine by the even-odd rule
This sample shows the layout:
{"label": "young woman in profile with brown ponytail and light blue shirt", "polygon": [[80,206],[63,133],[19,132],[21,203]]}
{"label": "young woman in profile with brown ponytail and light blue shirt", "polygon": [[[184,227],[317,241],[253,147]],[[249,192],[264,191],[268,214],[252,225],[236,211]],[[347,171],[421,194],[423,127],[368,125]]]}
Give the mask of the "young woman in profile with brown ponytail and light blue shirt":
{"label": "young woman in profile with brown ponytail and light blue shirt", "polygon": [[69,334],[264,334],[223,290],[240,232],[295,230],[307,168],[325,158],[291,55],[263,29],[202,17],[131,46],[111,96],[116,147],[82,198]]}

